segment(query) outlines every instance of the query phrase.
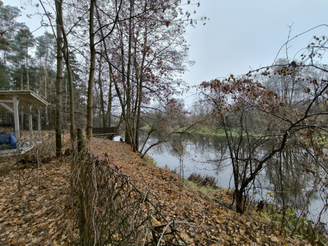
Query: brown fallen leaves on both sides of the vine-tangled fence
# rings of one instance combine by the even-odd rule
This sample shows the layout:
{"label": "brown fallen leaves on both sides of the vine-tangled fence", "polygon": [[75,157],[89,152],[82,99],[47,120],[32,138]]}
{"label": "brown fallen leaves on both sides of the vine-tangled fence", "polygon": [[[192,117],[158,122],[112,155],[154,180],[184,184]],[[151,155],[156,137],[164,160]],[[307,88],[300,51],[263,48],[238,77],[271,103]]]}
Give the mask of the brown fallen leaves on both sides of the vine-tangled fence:
{"label": "brown fallen leaves on both sides of the vine-tangled fence", "polygon": [[[66,143],[68,138],[65,136]],[[167,221],[183,222],[176,228],[190,245],[308,245],[305,241],[284,238],[278,231],[261,225],[252,214],[236,214],[187,185],[181,190],[174,174],[147,166],[140,154],[125,143],[93,138],[89,147],[99,158],[105,158],[106,153],[115,168],[128,175],[142,192],[155,195],[157,207]],[[1,245],[76,243],[78,231],[68,206],[70,164],[68,158],[56,159],[54,153],[47,155],[50,160],[42,162],[39,170],[36,163],[17,169],[16,157],[0,160],[0,170],[6,170],[0,172]],[[217,198],[223,202],[228,199],[222,189],[217,189]],[[155,217],[153,223],[160,224]]]}

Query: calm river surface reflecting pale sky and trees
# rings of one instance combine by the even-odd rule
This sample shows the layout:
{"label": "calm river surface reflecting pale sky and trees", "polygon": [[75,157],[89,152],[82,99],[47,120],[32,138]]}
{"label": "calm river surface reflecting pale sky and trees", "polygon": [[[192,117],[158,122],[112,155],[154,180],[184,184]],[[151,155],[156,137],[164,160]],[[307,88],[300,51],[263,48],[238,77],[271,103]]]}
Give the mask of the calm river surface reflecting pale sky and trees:
{"label": "calm river surface reflecting pale sky and trees", "polygon": [[[151,136],[148,145],[159,140],[159,136]],[[267,145],[263,148],[271,148]],[[262,149],[265,151],[265,149]],[[261,152],[261,151],[260,151]],[[153,147],[149,152],[159,167],[168,167],[179,171],[183,163],[183,176],[188,177],[196,172],[214,176],[217,185],[233,187],[232,167],[225,138],[206,138],[201,135],[174,135],[170,142]],[[265,170],[258,175],[249,195],[255,200],[270,200],[278,205],[290,205],[299,213],[308,213],[317,217],[325,206],[318,186],[322,184],[319,172],[311,172],[311,158],[302,150],[285,152],[270,159]],[[272,193],[274,192],[274,196]],[[268,194],[269,193],[269,194]],[[327,198],[325,198],[327,199]],[[326,223],[327,213],[321,215]]]}

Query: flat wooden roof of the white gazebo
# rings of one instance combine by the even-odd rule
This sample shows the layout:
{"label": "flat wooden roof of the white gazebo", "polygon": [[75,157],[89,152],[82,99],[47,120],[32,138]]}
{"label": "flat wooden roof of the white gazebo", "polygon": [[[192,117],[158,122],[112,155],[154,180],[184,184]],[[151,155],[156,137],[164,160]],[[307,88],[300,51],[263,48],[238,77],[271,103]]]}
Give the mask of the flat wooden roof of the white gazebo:
{"label": "flat wooden roof of the white gazebo", "polygon": [[[0,102],[4,100],[13,100],[13,96],[19,99],[18,106],[26,106],[29,102],[36,106],[48,105],[45,100],[32,91],[0,91]],[[12,102],[6,101],[6,104],[12,106]],[[1,106],[0,104],[0,107]]]}

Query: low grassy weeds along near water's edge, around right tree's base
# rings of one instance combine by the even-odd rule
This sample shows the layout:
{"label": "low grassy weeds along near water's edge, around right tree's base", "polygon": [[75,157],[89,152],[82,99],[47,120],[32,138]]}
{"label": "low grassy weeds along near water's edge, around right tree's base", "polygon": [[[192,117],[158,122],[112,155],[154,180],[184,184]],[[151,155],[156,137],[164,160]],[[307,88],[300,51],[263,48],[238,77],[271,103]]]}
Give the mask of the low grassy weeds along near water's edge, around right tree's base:
{"label": "low grassy weeds along near water's edge, around right tree's base", "polygon": [[[208,182],[208,180],[210,180]],[[234,192],[231,189],[217,187],[214,177],[201,176],[192,174],[188,177],[187,184],[194,190],[197,190],[204,199],[209,199],[226,208],[231,208],[231,202],[234,197]],[[274,198],[274,196],[271,196]],[[264,203],[263,201],[254,202],[251,199],[247,202],[248,214],[251,217],[256,217],[261,223],[263,233],[277,230],[280,235],[278,238],[283,238],[286,235],[292,235],[293,238],[305,239],[311,244],[325,245],[328,242],[326,227],[324,223],[319,223],[314,226],[314,222],[306,217],[298,217],[296,211],[292,208],[282,210],[281,207],[274,201]]]}

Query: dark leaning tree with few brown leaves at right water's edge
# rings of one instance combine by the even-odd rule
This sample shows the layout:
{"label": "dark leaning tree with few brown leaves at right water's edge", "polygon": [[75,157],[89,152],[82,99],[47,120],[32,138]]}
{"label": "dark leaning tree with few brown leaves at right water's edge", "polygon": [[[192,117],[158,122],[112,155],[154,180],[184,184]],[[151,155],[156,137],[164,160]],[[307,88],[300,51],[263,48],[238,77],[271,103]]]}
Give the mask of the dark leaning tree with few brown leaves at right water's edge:
{"label": "dark leaning tree with few brown leaves at right water's edge", "polygon": [[[287,69],[284,68],[288,72]],[[291,150],[295,151],[301,147],[311,156],[312,168],[316,166],[327,173],[327,159],[320,154],[322,145],[316,144],[315,134],[311,132],[319,136],[327,132],[326,113],[319,110],[317,104],[326,100],[328,83],[316,78],[309,78],[309,83],[315,84],[316,90],[308,94],[308,99],[302,101],[303,107],[299,108],[289,107],[284,98],[249,78],[236,79],[231,75],[225,80],[201,84],[202,93],[226,134],[237,212],[243,213],[247,190],[267,162],[287,147],[293,146]],[[268,143],[272,148],[263,151]],[[224,158],[227,157],[221,159]]]}

